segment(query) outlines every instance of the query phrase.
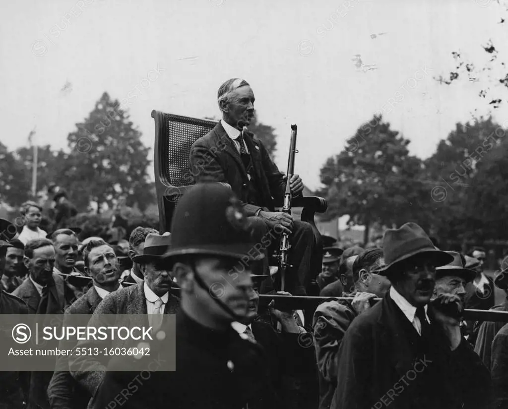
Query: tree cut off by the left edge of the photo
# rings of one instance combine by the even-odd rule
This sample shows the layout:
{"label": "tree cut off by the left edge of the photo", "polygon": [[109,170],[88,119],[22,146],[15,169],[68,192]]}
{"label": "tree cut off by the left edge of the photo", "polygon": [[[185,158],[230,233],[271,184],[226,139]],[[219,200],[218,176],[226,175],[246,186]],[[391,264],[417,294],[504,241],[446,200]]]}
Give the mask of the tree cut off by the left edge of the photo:
{"label": "tree cut off by the left edge of the photo", "polygon": [[20,206],[30,197],[31,177],[13,152],[0,142],[0,202]]}

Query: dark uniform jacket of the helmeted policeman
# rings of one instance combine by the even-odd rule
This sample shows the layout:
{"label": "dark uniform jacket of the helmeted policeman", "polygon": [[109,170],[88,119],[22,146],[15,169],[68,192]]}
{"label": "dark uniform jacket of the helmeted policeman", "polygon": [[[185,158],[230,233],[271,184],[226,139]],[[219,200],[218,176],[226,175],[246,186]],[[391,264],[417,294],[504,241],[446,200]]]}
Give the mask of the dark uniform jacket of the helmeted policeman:
{"label": "dark uniform jacket of the helmeted policeman", "polygon": [[[155,340],[151,356],[133,359],[133,368],[167,360],[167,342]],[[122,409],[279,408],[265,359],[261,347],[242,339],[233,328],[214,331],[180,312],[176,316],[176,371],[154,370],[148,379],[133,382],[136,372],[111,371],[113,358],[94,407],[105,408],[116,399]]]}

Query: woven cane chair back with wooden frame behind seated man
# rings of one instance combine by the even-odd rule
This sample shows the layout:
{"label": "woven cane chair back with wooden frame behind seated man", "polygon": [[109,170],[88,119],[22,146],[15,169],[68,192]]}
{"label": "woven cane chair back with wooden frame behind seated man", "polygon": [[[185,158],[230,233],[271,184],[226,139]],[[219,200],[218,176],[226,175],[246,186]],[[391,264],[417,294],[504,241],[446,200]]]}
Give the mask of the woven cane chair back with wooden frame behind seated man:
{"label": "woven cane chair back with wooden frame behind seated man", "polygon": [[195,184],[190,172],[190,147],[217,121],[152,111],[155,121],[154,175],[160,231],[170,231],[171,217],[181,195]]}

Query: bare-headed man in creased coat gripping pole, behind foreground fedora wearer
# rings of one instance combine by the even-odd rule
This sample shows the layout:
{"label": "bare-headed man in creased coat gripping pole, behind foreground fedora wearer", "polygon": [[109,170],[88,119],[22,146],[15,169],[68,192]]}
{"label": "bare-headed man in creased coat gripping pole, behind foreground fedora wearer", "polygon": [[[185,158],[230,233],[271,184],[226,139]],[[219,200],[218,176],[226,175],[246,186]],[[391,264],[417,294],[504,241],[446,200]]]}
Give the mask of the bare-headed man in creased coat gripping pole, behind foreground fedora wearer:
{"label": "bare-headed man in creased coat gripping pole, behind foreground fedora wearer", "polygon": [[[390,281],[374,269],[384,266],[383,250],[365,250],[353,256],[355,292],[353,302],[327,300],[321,303],[312,320],[314,347],[319,370],[320,409],[328,409],[337,386],[339,347],[347,328],[359,314],[370,308],[370,299],[383,297],[390,288]],[[353,294],[351,294],[353,296]]]}

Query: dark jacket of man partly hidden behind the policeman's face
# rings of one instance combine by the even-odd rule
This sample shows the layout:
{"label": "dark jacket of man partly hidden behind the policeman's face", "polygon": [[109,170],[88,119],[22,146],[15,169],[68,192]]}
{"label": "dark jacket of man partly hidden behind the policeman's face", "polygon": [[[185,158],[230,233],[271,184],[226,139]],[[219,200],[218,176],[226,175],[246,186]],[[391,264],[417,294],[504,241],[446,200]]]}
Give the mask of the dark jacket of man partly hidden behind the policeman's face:
{"label": "dark jacket of man partly hidden behind the policeman's face", "polygon": [[317,379],[312,336],[278,333],[261,320],[254,321],[251,328],[256,342],[265,350],[273,386],[282,398],[283,407],[315,407]]}

